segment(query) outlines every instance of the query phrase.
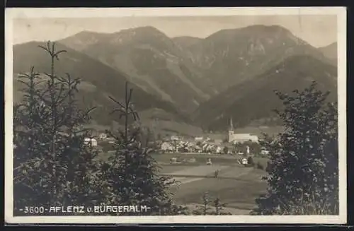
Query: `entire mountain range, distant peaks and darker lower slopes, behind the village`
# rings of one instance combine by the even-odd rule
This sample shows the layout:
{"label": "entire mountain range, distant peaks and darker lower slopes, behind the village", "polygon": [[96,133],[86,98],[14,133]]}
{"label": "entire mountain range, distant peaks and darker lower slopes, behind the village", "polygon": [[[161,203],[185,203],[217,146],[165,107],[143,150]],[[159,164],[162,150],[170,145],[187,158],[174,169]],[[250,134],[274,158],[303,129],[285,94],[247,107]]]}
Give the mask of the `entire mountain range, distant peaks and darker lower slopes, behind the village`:
{"label": "entire mountain range, distant peaks and darker lower slopes, behind the village", "polygon": [[[13,47],[14,73],[48,69],[38,42]],[[168,37],[153,27],[110,34],[79,32],[57,41],[58,70],[81,77],[86,102],[111,108],[108,95],[135,89],[137,109],[154,119],[207,130],[273,117],[273,90],[291,91],[317,81],[336,95],[336,44],[316,48],[278,25],[219,30],[206,38]],[[104,112],[104,113],[103,113]],[[177,125],[178,127],[178,125]]]}

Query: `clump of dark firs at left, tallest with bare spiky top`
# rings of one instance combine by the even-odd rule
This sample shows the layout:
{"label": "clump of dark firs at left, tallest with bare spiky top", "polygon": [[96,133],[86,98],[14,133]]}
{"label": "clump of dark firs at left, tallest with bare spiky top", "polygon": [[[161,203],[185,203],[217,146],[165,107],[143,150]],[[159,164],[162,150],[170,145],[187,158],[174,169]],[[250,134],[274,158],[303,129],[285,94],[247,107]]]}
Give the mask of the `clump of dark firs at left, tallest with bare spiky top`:
{"label": "clump of dark firs at left, tallest with bare spiky top", "polygon": [[[96,150],[84,143],[81,127],[89,112],[75,96],[79,79],[55,73],[59,54],[54,43],[40,47],[50,59],[50,73],[20,76],[23,99],[14,107],[14,207],[95,203],[101,189],[95,181]],[[98,190],[99,189],[99,190]]]}

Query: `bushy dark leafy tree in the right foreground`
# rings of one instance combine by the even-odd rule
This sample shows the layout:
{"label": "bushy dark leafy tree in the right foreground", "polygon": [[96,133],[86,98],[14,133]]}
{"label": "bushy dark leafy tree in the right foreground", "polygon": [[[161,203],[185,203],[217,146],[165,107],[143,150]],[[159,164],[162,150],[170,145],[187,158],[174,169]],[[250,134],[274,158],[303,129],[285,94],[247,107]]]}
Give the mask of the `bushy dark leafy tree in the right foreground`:
{"label": "bushy dark leafy tree in the right foreground", "polygon": [[276,92],[285,132],[266,137],[268,193],[253,214],[338,214],[338,112],[316,83],[292,95]]}

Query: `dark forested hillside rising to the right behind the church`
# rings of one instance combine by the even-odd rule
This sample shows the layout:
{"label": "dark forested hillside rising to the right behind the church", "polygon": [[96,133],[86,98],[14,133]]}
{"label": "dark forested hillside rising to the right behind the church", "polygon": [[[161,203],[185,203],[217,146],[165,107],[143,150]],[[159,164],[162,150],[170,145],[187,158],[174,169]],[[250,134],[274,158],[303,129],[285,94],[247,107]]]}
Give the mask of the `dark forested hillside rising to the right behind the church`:
{"label": "dark forested hillside rising to the right behind the church", "polygon": [[249,78],[205,102],[195,112],[195,122],[205,129],[223,130],[229,126],[231,117],[236,127],[256,119],[272,118],[273,109],[281,106],[274,90],[290,93],[304,89],[312,81],[317,81],[321,90],[330,90],[331,100],[336,100],[336,76],[336,67],[311,56],[290,57],[260,76]]}

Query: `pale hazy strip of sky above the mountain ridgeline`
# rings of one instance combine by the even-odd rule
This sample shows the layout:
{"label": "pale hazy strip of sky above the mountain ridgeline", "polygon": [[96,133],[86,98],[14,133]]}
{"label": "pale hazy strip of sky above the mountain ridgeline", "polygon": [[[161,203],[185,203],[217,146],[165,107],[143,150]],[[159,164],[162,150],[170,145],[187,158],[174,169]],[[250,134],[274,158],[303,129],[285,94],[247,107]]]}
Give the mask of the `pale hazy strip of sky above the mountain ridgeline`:
{"label": "pale hazy strip of sky above the mountain ridgeline", "polygon": [[147,25],[169,37],[207,37],[222,29],[261,24],[283,26],[310,45],[323,47],[337,42],[336,19],[336,15],[21,18],[13,20],[13,43],[60,40],[83,30],[118,32]]}

